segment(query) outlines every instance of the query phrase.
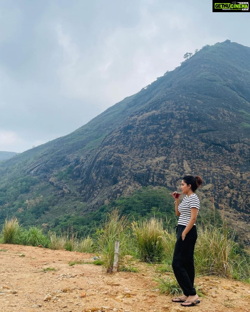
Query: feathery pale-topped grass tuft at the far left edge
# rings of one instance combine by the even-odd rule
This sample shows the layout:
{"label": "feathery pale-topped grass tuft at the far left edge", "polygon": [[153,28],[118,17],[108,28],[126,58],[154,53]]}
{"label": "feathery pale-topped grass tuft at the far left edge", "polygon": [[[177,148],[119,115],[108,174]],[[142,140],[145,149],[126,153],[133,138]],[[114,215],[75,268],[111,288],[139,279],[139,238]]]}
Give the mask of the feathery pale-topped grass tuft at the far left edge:
{"label": "feathery pale-topped grass tuft at the far left edge", "polygon": [[10,220],[7,218],[2,227],[2,241],[5,244],[17,244],[20,241],[22,233],[22,227],[16,217],[12,217]]}

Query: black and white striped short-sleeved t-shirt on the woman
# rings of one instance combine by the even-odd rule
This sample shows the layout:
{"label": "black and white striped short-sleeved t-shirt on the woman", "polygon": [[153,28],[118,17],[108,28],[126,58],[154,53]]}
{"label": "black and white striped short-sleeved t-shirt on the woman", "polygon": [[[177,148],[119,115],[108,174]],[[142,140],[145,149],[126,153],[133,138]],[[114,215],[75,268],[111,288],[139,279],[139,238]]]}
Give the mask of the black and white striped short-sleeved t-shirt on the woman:
{"label": "black and white striped short-sleeved t-shirt on the woman", "polygon": [[[186,195],[178,206],[180,213],[178,224],[187,225],[191,219],[191,208],[197,208],[197,214],[200,209],[200,200],[196,194]],[[195,225],[195,223],[194,223]]]}

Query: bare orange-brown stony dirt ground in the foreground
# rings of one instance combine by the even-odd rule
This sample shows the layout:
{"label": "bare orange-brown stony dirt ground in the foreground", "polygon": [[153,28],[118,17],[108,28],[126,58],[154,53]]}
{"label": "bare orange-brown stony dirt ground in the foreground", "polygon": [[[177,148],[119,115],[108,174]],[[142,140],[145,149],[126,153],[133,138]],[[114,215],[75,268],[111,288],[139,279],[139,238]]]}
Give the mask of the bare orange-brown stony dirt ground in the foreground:
{"label": "bare orange-brown stony dirt ground in the foreground", "polygon": [[235,280],[214,276],[196,278],[195,284],[205,297],[200,298],[199,305],[187,308],[155,290],[154,268],[143,263],[135,264],[139,273],[112,275],[93,264],[69,266],[70,261],[87,261],[93,256],[0,245],[1,311],[250,311],[250,285]]}

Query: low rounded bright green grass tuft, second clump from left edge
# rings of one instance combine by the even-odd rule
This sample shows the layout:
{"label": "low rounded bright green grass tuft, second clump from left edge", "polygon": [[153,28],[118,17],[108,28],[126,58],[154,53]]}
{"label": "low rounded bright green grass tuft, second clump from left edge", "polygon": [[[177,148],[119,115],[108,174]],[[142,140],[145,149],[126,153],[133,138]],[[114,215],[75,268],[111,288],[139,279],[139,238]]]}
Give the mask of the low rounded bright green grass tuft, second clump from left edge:
{"label": "low rounded bright green grass tuft, second clump from left edge", "polygon": [[47,236],[45,236],[41,229],[38,227],[30,227],[22,233],[22,243],[28,246],[47,247],[49,245]]}

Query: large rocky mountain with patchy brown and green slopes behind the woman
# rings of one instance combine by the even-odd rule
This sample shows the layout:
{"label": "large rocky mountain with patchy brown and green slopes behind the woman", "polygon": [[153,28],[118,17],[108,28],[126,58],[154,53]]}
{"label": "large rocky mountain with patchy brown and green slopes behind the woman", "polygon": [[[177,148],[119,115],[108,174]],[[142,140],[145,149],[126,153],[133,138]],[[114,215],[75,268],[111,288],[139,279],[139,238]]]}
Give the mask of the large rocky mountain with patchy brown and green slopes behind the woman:
{"label": "large rocky mountain with patchy brown and green slopes behind the woman", "polygon": [[71,134],[0,163],[0,220],[84,217],[142,186],[175,190],[191,173],[203,177],[211,206],[246,232],[249,85],[249,47],[204,46]]}

